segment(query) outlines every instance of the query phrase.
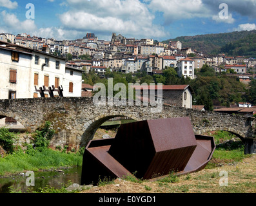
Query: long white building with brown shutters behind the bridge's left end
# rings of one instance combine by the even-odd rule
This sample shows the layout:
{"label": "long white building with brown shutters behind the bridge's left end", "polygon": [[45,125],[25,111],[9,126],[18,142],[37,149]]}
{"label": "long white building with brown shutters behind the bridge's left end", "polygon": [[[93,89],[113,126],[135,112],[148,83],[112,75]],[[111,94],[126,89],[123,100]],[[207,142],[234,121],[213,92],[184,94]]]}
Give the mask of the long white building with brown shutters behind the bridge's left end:
{"label": "long white building with brown shutters behind the bridge's left end", "polygon": [[[37,98],[41,97],[39,88],[52,86],[62,86],[64,97],[81,97],[82,71],[66,75],[61,57],[0,42],[0,68],[0,99]],[[54,96],[59,97],[59,93],[54,91]],[[49,91],[44,91],[44,97],[50,97]]]}

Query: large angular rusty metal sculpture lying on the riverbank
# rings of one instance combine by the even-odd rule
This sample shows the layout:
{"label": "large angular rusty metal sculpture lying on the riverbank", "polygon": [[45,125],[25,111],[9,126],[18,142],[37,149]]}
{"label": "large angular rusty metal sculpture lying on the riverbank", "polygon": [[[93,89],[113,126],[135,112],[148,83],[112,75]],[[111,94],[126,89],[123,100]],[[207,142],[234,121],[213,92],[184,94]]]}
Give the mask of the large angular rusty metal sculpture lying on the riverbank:
{"label": "large angular rusty metal sculpture lying on the riverbank", "polygon": [[212,158],[212,136],[195,135],[190,118],[166,118],[124,124],[115,138],[92,140],[83,157],[81,184],[99,177],[152,179],[170,171],[187,174],[204,169]]}

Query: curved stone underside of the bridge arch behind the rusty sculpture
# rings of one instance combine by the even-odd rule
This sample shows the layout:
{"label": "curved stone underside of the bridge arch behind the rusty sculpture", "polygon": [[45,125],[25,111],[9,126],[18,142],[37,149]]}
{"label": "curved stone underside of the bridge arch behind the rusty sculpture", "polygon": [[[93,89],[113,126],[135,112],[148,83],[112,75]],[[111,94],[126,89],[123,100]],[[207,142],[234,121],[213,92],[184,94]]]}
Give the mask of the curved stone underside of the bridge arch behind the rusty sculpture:
{"label": "curved stone underside of the bridge arch behind the rusty sculpture", "polygon": [[94,138],[94,135],[99,127],[106,121],[115,117],[129,117],[136,121],[142,121],[143,119],[135,117],[127,113],[110,113],[107,115],[100,115],[84,124],[83,135],[81,138],[81,147],[84,147]]}

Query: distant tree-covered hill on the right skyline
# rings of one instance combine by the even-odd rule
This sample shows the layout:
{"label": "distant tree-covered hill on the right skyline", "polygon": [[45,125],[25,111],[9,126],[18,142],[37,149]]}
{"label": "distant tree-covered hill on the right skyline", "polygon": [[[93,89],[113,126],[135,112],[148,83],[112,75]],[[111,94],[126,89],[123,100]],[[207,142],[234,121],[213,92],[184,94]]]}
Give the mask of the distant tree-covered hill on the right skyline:
{"label": "distant tree-covered hill on the right skyline", "polygon": [[[256,30],[252,30],[230,33],[212,33],[205,35],[183,36],[177,37],[175,39],[168,39],[163,42],[168,43],[169,41],[180,41],[182,42],[182,48],[190,47],[194,50],[206,54],[217,54],[223,53],[224,51],[228,53],[230,52],[230,54],[233,51],[233,53],[235,54],[241,49],[239,55],[242,55],[242,52],[247,53],[246,55],[255,55],[256,50],[253,51],[253,47],[249,48],[250,45],[248,45],[252,42],[255,43],[255,37]],[[230,48],[227,48],[227,45],[229,45],[230,43]],[[235,46],[239,46],[239,48],[234,48]]]}

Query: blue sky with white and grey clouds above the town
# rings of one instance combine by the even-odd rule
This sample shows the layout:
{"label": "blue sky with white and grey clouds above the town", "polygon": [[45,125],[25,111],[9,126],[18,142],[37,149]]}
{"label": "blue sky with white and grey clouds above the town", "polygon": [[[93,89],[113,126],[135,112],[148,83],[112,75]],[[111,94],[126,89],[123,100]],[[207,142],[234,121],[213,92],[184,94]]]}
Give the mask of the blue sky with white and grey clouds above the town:
{"label": "blue sky with white and grey clouds above the town", "polygon": [[[224,5],[223,5],[224,3]],[[0,0],[0,33],[157,41],[256,29],[256,0]]]}

